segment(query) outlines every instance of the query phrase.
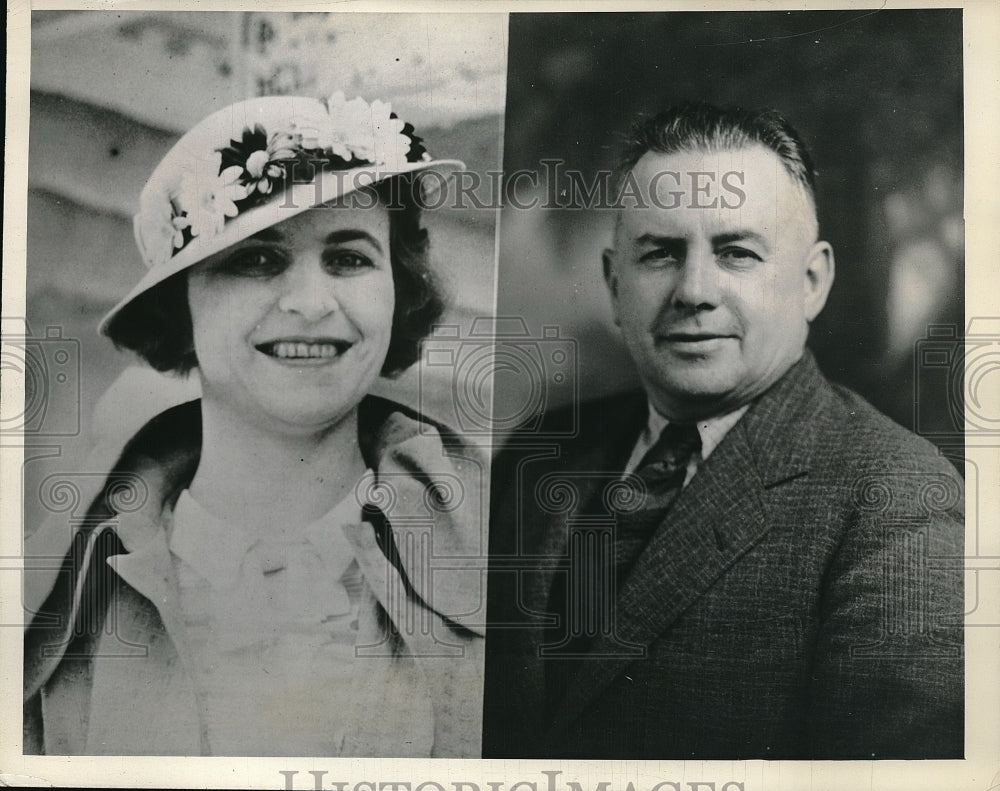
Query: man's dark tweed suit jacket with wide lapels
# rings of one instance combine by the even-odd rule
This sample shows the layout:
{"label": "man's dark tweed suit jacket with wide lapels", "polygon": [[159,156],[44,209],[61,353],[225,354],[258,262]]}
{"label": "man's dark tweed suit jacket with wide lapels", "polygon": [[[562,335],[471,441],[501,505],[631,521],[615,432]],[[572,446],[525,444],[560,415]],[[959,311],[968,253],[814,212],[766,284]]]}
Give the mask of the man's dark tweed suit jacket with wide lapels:
{"label": "man's dark tweed suit jacket with wide lapels", "polygon": [[961,757],[962,480],[808,352],[699,466],[611,612],[554,611],[586,587],[595,513],[627,510],[614,481],[645,421],[644,394],[606,399],[494,463],[485,755]]}

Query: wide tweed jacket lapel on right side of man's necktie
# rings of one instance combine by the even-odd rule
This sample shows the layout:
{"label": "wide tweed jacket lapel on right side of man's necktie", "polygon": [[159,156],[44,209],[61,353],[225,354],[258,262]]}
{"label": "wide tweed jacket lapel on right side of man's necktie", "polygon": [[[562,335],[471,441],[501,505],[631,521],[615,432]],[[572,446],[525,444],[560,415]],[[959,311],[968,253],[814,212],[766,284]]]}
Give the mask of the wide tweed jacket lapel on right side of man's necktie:
{"label": "wide tweed jacket lapel on right side of man's necktie", "polygon": [[[726,435],[678,496],[625,579],[613,635],[595,640],[555,712],[552,733],[578,717],[630,662],[612,643],[648,649],[770,529],[764,490],[806,474],[826,386],[809,352]],[[620,652],[619,652],[620,653]],[[641,660],[638,660],[641,661]]]}

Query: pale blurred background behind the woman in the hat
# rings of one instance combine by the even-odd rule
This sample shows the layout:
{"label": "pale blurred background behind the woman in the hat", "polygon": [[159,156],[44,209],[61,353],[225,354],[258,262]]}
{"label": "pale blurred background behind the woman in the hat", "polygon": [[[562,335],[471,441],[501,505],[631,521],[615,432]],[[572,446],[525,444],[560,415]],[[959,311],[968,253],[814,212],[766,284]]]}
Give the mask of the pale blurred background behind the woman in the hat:
{"label": "pale blurred background behind the woman in the hat", "polygon": [[[37,506],[31,492],[50,470],[78,469],[74,459],[96,440],[128,435],[197,393],[135,367],[96,332],[143,272],[132,215],[180,134],[250,96],[339,89],[388,101],[432,155],[496,171],[506,34],[499,14],[34,12],[29,353],[22,371],[18,361],[4,366],[27,390],[24,416],[5,414],[4,423],[23,420],[39,446],[26,464],[26,508]],[[432,260],[452,298],[445,321],[460,335],[493,310],[496,218],[496,209],[475,206],[426,214]],[[5,319],[5,337],[17,331]],[[451,402],[450,373],[414,369],[382,382],[382,392],[416,405],[419,382],[420,406],[439,415]]]}

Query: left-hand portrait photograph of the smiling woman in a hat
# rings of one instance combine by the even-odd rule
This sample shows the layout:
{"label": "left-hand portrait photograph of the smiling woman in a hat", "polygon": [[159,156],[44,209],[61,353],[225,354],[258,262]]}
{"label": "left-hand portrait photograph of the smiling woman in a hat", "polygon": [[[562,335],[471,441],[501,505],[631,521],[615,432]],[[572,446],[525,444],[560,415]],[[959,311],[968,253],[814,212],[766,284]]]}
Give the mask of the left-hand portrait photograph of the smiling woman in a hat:
{"label": "left-hand portrait photograph of the smiling woman in a hat", "polygon": [[32,13],[26,754],[479,757],[504,32]]}

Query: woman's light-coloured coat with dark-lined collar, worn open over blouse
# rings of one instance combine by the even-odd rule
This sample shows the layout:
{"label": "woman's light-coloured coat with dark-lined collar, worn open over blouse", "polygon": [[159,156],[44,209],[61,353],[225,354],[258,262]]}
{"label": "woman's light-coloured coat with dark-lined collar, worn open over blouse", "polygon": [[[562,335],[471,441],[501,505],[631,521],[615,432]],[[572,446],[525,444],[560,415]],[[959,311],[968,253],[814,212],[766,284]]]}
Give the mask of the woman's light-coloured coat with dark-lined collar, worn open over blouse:
{"label": "woman's light-coloured coat with dark-lined collar, worn open over blouse", "polygon": [[[382,399],[361,425],[382,499],[345,527],[365,586],[340,754],[478,757],[488,466]],[[25,753],[210,754],[168,549],[199,446],[198,402],[164,412],[94,477],[78,529],[53,517],[33,537],[26,557],[65,559],[27,575]]]}

